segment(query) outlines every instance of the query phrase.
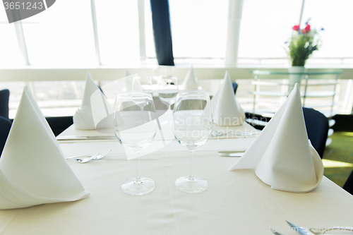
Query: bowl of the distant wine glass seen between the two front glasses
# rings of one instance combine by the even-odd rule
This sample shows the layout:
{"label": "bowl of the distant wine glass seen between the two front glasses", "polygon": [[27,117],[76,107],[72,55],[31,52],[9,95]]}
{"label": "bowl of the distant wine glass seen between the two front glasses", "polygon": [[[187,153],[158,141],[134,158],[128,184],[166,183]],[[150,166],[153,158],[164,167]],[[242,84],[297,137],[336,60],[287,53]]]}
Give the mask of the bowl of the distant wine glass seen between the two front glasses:
{"label": "bowl of the distant wine glass seen between the two front glasses", "polygon": [[168,102],[169,105],[175,102],[178,89],[178,78],[176,77],[163,77],[158,84],[158,97],[160,100]]}

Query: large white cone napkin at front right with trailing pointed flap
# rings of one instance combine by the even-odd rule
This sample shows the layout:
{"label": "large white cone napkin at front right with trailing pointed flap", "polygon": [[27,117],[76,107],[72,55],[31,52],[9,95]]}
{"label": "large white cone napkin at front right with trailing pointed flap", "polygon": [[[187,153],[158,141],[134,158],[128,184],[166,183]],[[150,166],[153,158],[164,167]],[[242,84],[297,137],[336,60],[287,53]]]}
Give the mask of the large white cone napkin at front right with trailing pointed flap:
{"label": "large white cone napkin at front right with trailing pointed flap", "polygon": [[259,179],[282,191],[305,193],[318,186],[323,162],[306,134],[298,84],[232,169],[256,169]]}

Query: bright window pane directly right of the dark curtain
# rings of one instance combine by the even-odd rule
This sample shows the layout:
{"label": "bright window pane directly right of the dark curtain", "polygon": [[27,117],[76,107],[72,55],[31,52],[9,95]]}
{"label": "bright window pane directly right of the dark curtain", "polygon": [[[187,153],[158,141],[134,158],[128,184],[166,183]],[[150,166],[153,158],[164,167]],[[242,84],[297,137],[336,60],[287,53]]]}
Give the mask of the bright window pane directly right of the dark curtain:
{"label": "bright window pane directly right of the dark curtain", "polygon": [[225,57],[228,0],[169,0],[174,58]]}

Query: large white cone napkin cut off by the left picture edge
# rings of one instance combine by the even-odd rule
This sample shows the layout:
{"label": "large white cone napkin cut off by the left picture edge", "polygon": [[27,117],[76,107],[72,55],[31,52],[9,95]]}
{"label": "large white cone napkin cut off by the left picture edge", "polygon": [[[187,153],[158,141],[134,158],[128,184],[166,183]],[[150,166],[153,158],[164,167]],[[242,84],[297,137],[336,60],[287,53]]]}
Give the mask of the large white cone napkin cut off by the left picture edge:
{"label": "large white cone napkin cut off by the left picture edge", "polygon": [[0,158],[0,209],[87,198],[25,87]]}

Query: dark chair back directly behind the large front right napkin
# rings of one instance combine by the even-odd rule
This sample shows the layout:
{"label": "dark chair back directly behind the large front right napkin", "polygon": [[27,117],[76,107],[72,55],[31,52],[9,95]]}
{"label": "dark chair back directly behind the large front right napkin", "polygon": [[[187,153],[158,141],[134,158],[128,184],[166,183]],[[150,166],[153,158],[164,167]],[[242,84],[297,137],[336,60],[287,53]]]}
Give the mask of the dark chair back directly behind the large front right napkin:
{"label": "dark chair back directly behind the large front right napkin", "polygon": [[321,112],[311,108],[303,107],[303,113],[308,138],[318,155],[323,158],[323,151],[328,138],[328,118]]}

